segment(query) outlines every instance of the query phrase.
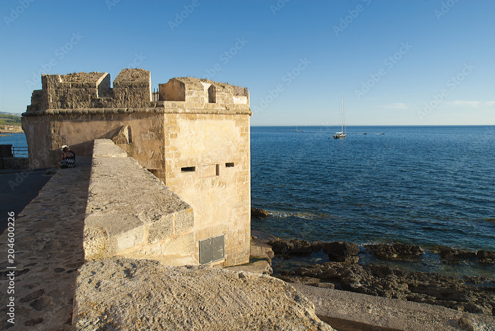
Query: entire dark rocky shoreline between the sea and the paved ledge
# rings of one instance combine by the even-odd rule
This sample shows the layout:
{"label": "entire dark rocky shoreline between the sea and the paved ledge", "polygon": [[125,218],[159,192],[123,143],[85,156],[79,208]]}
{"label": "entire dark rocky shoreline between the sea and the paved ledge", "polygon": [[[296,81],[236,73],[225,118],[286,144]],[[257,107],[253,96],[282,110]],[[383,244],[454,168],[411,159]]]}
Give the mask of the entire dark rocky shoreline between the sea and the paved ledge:
{"label": "entire dark rocky shoreline between the sea and the paved ledge", "polygon": [[[253,231],[260,236],[259,232]],[[317,287],[336,288],[346,291],[423,302],[466,311],[495,316],[494,277],[445,276],[440,273],[410,271],[404,268],[359,263],[359,246],[345,241],[309,242],[306,240],[283,240],[273,236],[254,236],[253,240],[272,247],[275,258],[290,260],[308,258],[311,253],[323,251],[330,262],[307,267],[275,269],[276,278],[288,283],[299,283]],[[424,253],[422,247],[404,244],[369,244],[362,246],[379,261],[419,260]],[[480,250],[467,252],[445,248],[436,252],[448,263],[465,259],[477,259],[479,263],[495,268],[495,252]],[[270,259],[271,262],[271,259]]]}

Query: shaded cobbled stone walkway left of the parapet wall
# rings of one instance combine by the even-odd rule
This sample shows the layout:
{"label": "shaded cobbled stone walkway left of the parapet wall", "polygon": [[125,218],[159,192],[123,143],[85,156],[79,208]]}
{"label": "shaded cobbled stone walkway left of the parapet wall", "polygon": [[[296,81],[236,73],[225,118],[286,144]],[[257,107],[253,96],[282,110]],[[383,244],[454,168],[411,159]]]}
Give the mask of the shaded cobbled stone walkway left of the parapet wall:
{"label": "shaded cobbled stone walkway left of the parapet wall", "polygon": [[[0,236],[0,329],[72,330],[77,269],[84,263],[83,227],[91,157],[59,170],[15,220],[15,264],[7,262],[7,231]],[[2,217],[7,217],[6,212]],[[2,211],[3,213],[3,211]],[[15,294],[7,294],[7,266],[16,266]],[[15,325],[7,323],[14,296]]]}

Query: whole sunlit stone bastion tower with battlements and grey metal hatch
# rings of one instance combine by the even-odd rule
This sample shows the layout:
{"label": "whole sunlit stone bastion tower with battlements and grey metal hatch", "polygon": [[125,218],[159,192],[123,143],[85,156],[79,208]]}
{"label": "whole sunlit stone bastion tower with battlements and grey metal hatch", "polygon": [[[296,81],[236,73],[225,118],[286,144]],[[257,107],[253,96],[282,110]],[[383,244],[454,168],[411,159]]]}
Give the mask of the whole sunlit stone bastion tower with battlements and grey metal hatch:
{"label": "whole sunlit stone bastion tower with battlements and grey metal hatch", "polygon": [[200,264],[249,262],[247,88],[172,78],[153,95],[144,69],[122,70],[113,88],[100,72],[43,75],[42,87],[22,114],[31,166],[54,166],[64,144],[92,155],[95,139],[111,139],[193,207],[181,236]]}

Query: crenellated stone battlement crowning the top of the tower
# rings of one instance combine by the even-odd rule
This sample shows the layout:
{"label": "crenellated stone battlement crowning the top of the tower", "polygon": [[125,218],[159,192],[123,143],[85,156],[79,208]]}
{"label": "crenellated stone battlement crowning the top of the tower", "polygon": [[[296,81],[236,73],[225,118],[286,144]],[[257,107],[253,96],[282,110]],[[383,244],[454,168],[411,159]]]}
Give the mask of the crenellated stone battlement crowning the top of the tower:
{"label": "crenellated stone battlement crowning the top of the tower", "polygon": [[152,101],[151,73],[144,69],[123,69],[113,81],[113,87],[106,72],[42,75],[42,90],[33,91],[31,105],[24,115],[101,108],[129,112],[147,111],[147,108],[155,112],[156,108],[176,108],[177,112],[187,109],[190,113],[202,113],[204,109],[250,112],[247,88],[192,77],[172,78],[158,87],[158,101]]}

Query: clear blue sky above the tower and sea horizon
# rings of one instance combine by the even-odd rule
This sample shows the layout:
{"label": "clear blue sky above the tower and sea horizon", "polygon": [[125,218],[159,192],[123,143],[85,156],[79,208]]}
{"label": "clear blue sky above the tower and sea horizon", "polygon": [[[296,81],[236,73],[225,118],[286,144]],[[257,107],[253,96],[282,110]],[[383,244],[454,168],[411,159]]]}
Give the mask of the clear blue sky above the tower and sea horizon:
{"label": "clear blue sky above the tower and sea horizon", "polygon": [[347,125],[494,125],[494,13],[493,0],[2,0],[0,111],[24,112],[42,70],[113,80],[137,65],[154,88],[247,87],[251,125],[334,125],[342,92]]}

